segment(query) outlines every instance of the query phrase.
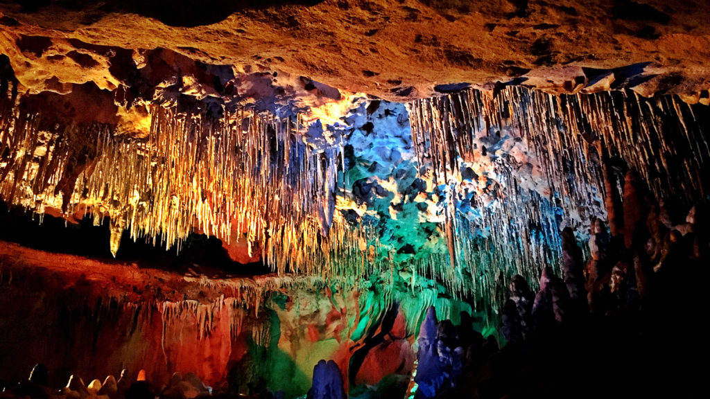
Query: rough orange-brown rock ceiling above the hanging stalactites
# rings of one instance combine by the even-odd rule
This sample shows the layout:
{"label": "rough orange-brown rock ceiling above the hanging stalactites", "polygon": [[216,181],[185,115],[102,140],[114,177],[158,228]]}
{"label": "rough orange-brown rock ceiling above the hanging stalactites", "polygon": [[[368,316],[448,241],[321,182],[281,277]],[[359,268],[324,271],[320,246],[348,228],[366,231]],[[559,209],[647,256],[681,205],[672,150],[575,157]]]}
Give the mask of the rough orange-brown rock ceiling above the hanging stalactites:
{"label": "rough orange-brown rock ceiling above the hanging stalactites", "polygon": [[134,58],[168,48],[236,72],[288,72],[398,101],[429,97],[438,84],[526,73],[528,84],[569,92],[587,82],[582,67],[641,62],[649,64],[623,77],[636,77],[625,86],[640,94],[710,86],[703,0],[149,3],[3,2],[0,47],[33,92],[69,82],[116,86],[115,60],[92,45],[134,50]]}

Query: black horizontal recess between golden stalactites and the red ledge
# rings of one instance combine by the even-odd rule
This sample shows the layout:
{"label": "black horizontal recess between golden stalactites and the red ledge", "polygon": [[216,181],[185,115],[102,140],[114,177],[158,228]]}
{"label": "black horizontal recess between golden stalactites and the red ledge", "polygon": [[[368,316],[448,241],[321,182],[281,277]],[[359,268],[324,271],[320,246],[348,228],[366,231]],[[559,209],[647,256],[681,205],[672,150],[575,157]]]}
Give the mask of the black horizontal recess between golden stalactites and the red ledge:
{"label": "black horizontal recess between golden stalactites and the red ledge", "polygon": [[[78,224],[45,215],[40,217],[18,207],[8,207],[0,201],[0,241],[9,241],[28,248],[55,253],[112,261],[109,250],[109,219],[94,226],[92,217],[84,217]],[[163,268],[179,273],[187,268],[206,275],[263,275],[271,273],[261,262],[242,265],[231,261],[222,248],[222,241],[204,234],[190,234],[180,251],[173,247],[165,250],[159,244],[144,239],[133,241],[128,231],[121,237],[121,248],[116,261],[136,262],[140,266]]]}

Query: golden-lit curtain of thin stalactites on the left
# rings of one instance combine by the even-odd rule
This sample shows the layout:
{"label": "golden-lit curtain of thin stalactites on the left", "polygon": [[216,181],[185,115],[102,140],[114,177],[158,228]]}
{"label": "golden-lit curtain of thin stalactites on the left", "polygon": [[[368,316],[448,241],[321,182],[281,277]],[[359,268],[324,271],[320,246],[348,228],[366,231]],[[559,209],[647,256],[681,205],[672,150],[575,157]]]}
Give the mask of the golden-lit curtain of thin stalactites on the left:
{"label": "golden-lit curtain of thin stalactites on the left", "polygon": [[229,241],[237,229],[280,272],[377,270],[376,258],[362,267],[358,244],[374,248],[376,235],[335,212],[342,143],[306,143],[300,116],[204,111],[209,104],[178,112],[178,104],[156,103],[144,118],[150,132],[131,136],[45,123],[41,110],[21,112],[19,103],[0,104],[11,154],[0,164],[1,197],[40,214],[53,207],[88,212],[96,224],[109,217],[114,256],[123,229],[178,249],[193,231]]}

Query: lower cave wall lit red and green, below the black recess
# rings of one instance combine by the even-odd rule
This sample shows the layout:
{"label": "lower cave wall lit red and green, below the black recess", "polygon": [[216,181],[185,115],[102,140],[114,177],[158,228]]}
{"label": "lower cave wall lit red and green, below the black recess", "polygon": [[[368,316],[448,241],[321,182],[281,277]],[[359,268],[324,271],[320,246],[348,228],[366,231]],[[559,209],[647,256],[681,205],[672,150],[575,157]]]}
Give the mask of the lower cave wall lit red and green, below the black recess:
{"label": "lower cave wall lit red and green, below the black recess", "polygon": [[55,386],[125,368],[133,378],[145,370],[157,386],[191,372],[213,388],[293,397],[329,359],[346,386],[376,385],[410,375],[428,306],[454,319],[470,310],[427,292],[386,293],[379,283],[180,277],[1,244],[0,360],[15,365],[3,368],[4,381],[43,362]]}

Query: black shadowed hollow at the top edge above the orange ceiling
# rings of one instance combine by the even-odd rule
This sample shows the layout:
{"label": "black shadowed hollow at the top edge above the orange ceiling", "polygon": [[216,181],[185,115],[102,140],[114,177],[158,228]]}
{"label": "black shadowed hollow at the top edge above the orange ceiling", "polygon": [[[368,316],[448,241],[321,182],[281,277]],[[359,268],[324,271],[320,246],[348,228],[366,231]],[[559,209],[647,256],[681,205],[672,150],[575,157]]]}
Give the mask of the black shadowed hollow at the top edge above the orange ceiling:
{"label": "black shadowed hollow at the top edge above the orange ceiling", "polygon": [[[322,0],[108,0],[99,11],[136,13],[158,19],[170,26],[201,26],[223,21],[239,11],[261,10],[284,5],[312,6]],[[94,6],[94,0],[18,0],[23,11],[33,12],[45,6],[78,10]]]}

